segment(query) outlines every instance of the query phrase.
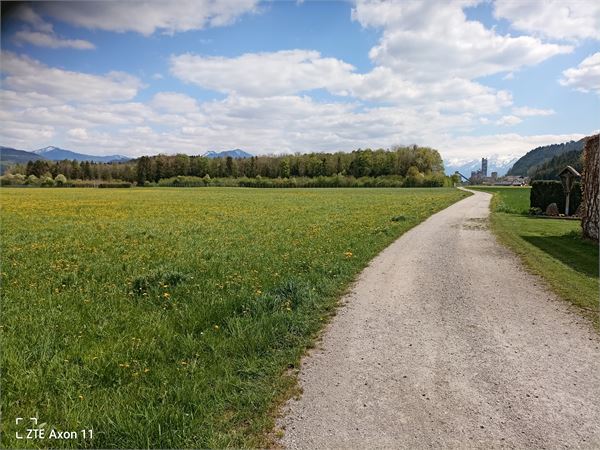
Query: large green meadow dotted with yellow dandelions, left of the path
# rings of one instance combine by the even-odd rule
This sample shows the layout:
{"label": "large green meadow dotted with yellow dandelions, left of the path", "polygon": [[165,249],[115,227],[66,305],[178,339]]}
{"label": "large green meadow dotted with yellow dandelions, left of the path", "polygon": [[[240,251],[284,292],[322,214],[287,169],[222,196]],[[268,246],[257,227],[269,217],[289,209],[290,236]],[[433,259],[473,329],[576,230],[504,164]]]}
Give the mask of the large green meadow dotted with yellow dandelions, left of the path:
{"label": "large green meadow dotted with yellow dandelions, left of the path", "polygon": [[466,195],[2,188],[2,447],[264,446],[355,275]]}

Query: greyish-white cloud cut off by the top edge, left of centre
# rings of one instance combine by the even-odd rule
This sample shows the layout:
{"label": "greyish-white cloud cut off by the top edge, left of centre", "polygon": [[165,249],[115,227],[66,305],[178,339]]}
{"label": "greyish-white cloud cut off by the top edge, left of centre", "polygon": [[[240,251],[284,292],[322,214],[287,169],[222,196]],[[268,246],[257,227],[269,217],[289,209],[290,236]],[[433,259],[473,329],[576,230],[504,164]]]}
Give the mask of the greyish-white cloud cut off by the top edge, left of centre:
{"label": "greyish-white cloud cut off by the top edge, left of centre", "polygon": [[257,0],[150,0],[48,2],[40,11],[72,25],[106,31],[176,33],[233,23],[256,11]]}

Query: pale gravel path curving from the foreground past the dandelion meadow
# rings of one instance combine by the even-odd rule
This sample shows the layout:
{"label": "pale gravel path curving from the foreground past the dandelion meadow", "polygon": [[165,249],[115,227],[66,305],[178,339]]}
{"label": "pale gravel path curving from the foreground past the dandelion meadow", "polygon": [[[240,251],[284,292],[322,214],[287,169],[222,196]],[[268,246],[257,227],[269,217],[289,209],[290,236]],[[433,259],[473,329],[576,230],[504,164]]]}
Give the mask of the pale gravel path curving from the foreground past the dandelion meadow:
{"label": "pale gravel path curving from the foreground past the dandelion meadow", "polygon": [[600,448],[600,338],[475,195],[363,271],[279,426],[288,448]]}

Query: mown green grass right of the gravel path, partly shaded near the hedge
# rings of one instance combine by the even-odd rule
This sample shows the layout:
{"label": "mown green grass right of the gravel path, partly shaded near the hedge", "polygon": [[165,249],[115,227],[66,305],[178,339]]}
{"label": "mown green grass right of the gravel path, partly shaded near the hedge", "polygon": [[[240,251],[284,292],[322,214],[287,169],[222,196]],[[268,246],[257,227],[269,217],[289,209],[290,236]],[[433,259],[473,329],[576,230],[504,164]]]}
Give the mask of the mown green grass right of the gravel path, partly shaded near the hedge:
{"label": "mown green grass right of the gravel path, partly shaded near the hedge", "polygon": [[476,189],[494,194],[492,229],[501,242],[600,330],[598,245],[582,239],[580,222],[527,216],[527,187]]}

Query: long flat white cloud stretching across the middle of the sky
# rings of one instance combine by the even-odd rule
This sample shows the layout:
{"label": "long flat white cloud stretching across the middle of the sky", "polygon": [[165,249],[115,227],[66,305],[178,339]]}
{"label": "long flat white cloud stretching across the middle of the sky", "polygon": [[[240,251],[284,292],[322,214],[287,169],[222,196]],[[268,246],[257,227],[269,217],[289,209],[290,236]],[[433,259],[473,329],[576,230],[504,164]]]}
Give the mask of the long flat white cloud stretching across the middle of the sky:
{"label": "long flat white cloud stretching across the middle of the sky", "polygon": [[388,67],[359,74],[339,59],[319,52],[287,50],[247,53],[236,58],[183,54],[171,57],[171,73],[207,89],[244,97],[270,97],[326,89],[340,96],[449,112],[493,113],[512,102],[496,91],[463,78],[415,82]]}

